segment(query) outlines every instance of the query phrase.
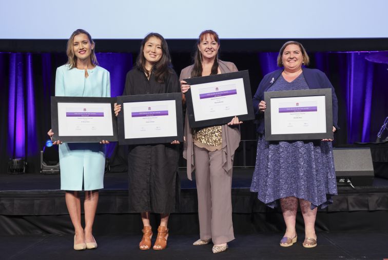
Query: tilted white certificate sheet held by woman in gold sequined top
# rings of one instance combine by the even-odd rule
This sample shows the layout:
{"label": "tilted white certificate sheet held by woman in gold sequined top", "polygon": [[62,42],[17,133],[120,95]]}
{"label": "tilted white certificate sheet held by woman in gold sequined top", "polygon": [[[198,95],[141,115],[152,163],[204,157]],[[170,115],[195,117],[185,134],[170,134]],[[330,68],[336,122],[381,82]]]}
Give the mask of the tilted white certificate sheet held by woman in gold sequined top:
{"label": "tilted white certificate sheet held by woman in gold sequined top", "polygon": [[242,78],[190,86],[196,121],[248,114]]}

